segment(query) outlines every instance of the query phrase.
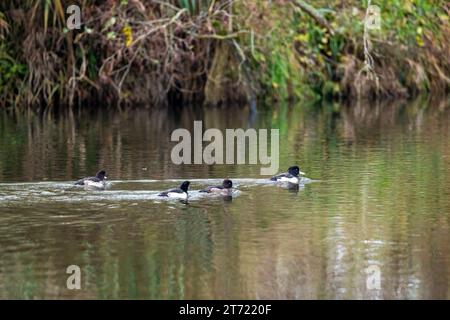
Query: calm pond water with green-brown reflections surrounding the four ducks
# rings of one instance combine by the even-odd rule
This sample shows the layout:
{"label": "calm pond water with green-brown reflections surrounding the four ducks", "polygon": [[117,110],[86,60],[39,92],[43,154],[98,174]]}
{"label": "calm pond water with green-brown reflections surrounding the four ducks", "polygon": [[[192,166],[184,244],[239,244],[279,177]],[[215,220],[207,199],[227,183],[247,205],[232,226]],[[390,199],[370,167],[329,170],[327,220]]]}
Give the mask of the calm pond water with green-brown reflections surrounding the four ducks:
{"label": "calm pond water with green-brown reflections surrounding the four ducks", "polygon": [[[448,105],[3,112],[0,298],[449,299]],[[173,164],[194,120],[280,129],[280,170],[312,181]],[[72,185],[99,168],[106,191]],[[196,192],[223,178],[231,200]],[[185,179],[188,203],[155,197]]]}

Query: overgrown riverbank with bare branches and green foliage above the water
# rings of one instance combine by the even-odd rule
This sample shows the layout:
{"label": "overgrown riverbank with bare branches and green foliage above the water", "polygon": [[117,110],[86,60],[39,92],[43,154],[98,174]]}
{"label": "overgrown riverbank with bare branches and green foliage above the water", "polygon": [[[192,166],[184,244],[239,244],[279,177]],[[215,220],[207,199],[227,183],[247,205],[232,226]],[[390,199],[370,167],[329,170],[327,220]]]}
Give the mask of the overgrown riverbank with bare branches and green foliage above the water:
{"label": "overgrown riverbank with bare branches and green foliage above the water", "polygon": [[78,4],[73,31],[67,1],[0,4],[0,107],[403,98],[450,88],[446,1],[372,1],[379,30],[365,30],[360,1]]}

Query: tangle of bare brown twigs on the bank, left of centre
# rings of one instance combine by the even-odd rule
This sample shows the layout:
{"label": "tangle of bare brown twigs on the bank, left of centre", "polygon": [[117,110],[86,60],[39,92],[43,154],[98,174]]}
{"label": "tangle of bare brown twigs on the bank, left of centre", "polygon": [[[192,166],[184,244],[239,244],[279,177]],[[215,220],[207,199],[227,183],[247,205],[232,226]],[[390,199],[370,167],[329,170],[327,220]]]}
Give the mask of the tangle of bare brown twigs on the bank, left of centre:
{"label": "tangle of bare brown twigs on the bank, left of centre", "polygon": [[[141,1],[133,1],[127,9],[98,10],[86,23],[90,32],[78,39],[80,49],[84,44],[102,50],[98,76],[119,101],[130,93],[138,97],[136,91],[141,91],[143,99],[154,102],[166,100],[171,92],[192,102],[204,90],[217,44],[250,32],[229,27],[233,0],[212,1],[207,10],[196,14],[169,2],[152,3],[157,7],[149,14]],[[73,90],[75,82],[88,79],[88,52],[81,53],[77,76],[70,81]]]}

